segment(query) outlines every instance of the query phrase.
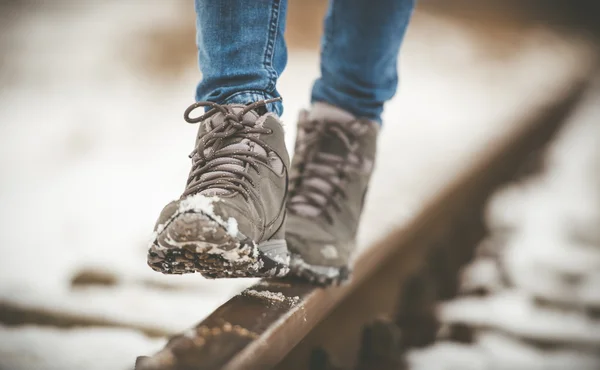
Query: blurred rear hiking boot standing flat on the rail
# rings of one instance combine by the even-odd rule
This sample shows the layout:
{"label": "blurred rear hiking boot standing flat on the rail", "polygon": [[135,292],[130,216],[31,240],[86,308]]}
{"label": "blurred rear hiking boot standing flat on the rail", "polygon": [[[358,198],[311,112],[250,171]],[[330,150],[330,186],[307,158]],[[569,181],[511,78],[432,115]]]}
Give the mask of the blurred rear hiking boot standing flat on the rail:
{"label": "blurred rear hiking boot standing flat on the rail", "polygon": [[324,103],[300,113],[286,224],[293,274],[323,285],[348,278],[378,130]]}

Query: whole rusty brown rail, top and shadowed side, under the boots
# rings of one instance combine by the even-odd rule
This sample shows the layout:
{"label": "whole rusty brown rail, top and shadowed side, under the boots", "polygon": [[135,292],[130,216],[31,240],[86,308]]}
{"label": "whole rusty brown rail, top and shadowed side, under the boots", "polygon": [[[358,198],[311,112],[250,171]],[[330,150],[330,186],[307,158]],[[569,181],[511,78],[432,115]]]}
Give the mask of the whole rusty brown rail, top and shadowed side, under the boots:
{"label": "whole rusty brown rail, top and shadowed side, under the boots", "polygon": [[[458,270],[486,232],[486,199],[503,183],[535,170],[585,87],[585,80],[577,81],[532,112],[410,224],[362,251],[350,283],[321,289],[262,280],[172,337],[160,352],[139,357],[136,370],[325,370],[335,368],[330,355],[349,368],[357,361],[368,364],[396,336],[407,346],[431,342],[437,329],[433,303],[456,295]],[[402,332],[373,324],[381,317],[402,322]],[[361,350],[361,341],[367,348]]]}

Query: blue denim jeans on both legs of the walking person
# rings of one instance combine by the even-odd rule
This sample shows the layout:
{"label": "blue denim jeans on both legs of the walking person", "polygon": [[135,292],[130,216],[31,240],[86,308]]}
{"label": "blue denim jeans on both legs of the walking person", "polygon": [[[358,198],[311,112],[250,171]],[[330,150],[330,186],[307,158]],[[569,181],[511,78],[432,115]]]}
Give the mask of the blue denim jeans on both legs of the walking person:
{"label": "blue denim jeans on both legs of the walking person", "polygon": [[[311,101],[381,122],[396,93],[398,52],[415,0],[330,0],[321,77]],[[286,0],[195,0],[202,81],[196,100],[247,104],[279,97],[287,63]],[[270,104],[281,115],[283,104]]]}

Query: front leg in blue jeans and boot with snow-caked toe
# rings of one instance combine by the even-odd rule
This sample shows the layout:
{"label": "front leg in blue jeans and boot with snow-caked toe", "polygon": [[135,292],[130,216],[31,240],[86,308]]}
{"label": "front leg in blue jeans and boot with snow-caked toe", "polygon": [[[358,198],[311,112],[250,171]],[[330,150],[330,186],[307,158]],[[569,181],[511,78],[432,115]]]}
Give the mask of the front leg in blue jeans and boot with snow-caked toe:
{"label": "front leg in blue jeans and boot with snow-caked toe", "polygon": [[[289,156],[273,99],[287,59],[285,11],[285,0],[196,0],[203,76],[184,118],[200,124],[185,190],[156,222],[152,269],[209,278],[288,272]],[[197,108],[205,113],[192,117]]]}

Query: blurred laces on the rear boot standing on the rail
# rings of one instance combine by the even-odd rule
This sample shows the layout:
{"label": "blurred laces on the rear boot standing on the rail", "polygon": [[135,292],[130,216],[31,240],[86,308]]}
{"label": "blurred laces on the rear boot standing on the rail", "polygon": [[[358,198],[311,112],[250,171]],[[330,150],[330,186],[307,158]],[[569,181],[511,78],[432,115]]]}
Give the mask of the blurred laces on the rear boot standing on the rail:
{"label": "blurred laces on the rear boot standing on the rail", "polygon": [[[339,201],[347,199],[344,180],[360,168],[354,135],[349,132],[348,123],[306,121],[298,126],[305,136],[297,148],[296,155],[301,160],[290,179],[288,210],[306,217],[322,214],[332,224],[331,210],[339,212]],[[322,140],[328,136],[342,143],[345,156],[319,151]]]}

